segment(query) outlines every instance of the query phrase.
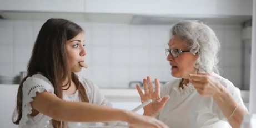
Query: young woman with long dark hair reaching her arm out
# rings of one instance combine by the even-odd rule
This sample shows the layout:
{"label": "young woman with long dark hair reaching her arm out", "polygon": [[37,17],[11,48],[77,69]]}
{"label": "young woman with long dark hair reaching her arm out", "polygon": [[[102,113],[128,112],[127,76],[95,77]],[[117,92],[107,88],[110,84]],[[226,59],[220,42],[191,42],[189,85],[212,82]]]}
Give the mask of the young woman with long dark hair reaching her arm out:
{"label": "young woman with long dark hair reaching her arm out", "polygon": [[[65,19],[49,19],[39,31],[17,94],[14,124],[20,128],[66,127],[68,121],[126,121],[130,125],[167,127],[157,119],[113,109],[91,81],[75,72],[84,62],[82,28]],[[95,105],[97,104],[97,105]]]}

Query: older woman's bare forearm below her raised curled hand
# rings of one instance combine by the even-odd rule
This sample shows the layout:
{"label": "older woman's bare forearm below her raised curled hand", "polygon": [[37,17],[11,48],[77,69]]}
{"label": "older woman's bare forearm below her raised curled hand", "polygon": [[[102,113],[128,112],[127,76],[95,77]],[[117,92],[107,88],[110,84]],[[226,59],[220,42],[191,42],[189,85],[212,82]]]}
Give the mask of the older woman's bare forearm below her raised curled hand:
{"label": "older woman's bare forearm below her raised curled hand", "polygon": [[[228,118],[229,124],[234,127],[240,127],[244,114],[248,113],[242,106],[239,106],[237,102],[229,94],[228,90],[222,85],[218,86],[218,92],[213,96],[213,99],[218,104],[226,118]],[[237,106],[238,105],[238,106]]]}

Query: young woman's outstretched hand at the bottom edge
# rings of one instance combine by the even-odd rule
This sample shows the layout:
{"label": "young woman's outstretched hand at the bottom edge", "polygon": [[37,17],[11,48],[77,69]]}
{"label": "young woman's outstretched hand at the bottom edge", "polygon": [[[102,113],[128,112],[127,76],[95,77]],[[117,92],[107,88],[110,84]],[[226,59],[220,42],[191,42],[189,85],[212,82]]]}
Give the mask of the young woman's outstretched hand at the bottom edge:
{"label": "young woman's outstretched hand at the bottom edge", "polygon": [[136,113],[133,113],[131,111],[128,111],[128,114],[130,115],[128,123],[130,124],[130,127],[143,127],[143,128],[168,128],[167,125],[165,125],[162,121],[159,121],[153,117],[150,116],[143,116]]}

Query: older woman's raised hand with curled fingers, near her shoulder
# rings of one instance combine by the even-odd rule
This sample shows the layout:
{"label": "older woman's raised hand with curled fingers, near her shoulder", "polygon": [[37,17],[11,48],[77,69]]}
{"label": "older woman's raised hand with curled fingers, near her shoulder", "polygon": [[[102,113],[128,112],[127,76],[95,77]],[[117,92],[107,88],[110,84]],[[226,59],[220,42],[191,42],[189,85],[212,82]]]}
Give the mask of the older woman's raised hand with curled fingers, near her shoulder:
{"label": "older woman's raised hand with curled fingers, near her shoulder", "polygon": [[189,82],[205,97],[214,97],[222,89],[220,82],[208,73],[189,74]]}

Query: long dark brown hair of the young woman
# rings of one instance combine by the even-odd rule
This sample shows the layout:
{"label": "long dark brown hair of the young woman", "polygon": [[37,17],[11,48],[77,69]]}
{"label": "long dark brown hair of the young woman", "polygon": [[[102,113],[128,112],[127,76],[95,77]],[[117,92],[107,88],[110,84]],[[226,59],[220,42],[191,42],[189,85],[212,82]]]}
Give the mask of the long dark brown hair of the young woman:
{"label": "long dark brown hair of the young woman", "polygon": [[[76,84],[79,98],[82,102],[89,102],[86,90],[79,82],[78,77],[69,71],[66,55],[66,41],[74,38],[83,29],[66,19],[49,19],[43,24],[33,47],[32,56],[27,66],[27,76],[19,85],[17,94],[17,105],[14,110],[12,121],[19,124],[22,118],[23,82],[33,74],[42,73],[54,87],[54,94],[62,99],[63,81],[68,78],[64,86],[71,86],[71,81]],[[26,86],[26,85],[24,85]],[[60,127],[61,122],[52,119],[53,127]]]}

